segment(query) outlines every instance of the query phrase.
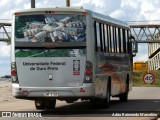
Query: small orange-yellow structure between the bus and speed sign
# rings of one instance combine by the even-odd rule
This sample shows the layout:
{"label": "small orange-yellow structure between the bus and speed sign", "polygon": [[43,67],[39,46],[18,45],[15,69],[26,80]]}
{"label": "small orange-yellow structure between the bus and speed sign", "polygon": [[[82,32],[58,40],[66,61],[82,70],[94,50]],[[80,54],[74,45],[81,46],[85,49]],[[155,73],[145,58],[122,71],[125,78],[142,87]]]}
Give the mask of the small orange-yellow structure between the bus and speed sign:
{"label": "small orange-yellow structure between the bus and speed sign", "polygon": [[133,70],[148,70],[148,62],[143,62],[143,61],[134,62]]}

